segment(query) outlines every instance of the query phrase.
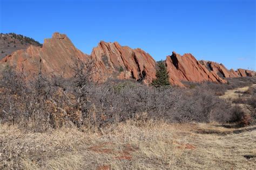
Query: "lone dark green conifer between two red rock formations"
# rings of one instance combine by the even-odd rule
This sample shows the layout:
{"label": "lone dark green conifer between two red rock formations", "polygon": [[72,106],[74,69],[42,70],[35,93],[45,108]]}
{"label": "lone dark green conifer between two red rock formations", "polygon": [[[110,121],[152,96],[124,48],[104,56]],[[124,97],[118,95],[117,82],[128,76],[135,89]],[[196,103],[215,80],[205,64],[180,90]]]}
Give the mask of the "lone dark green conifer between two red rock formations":
{"label": "lone dark green conifer between two red rock formations", "polygon": [[154,87],[160,87],[160,86],[169,86],[169,75],[165,66],[164,61],[159,61],[157,64],[157,72],[156,77],[157,79],[154,79],[152,81],[152,86]]}

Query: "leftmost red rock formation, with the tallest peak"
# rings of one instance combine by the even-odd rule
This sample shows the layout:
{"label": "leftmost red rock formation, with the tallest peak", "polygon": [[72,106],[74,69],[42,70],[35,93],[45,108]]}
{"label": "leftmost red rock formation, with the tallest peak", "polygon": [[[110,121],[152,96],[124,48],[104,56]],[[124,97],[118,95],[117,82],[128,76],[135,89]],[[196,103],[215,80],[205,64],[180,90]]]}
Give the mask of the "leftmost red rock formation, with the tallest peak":
{"label": "leftmost red rock formation, with the tallest peak", "polygon": [[30,46],[18,50],[0,61],[2,69],[8,65],[32,77],[41,71],[45,75],[73,75],[69,67],[80,59],[86,61],[89,55],[79,51],[65,34],[54,33],[51,39],[45,39],[43,47]]}

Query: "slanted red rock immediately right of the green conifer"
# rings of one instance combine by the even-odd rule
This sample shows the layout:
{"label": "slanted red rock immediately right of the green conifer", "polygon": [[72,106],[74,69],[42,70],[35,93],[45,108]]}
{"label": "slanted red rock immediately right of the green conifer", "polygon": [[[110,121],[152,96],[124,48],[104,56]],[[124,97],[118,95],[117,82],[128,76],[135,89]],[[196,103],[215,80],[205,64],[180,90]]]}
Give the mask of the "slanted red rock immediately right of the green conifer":
{"label": "slanted red rock immediately right of the green conifer", "polygon": [[181,56],[175,52],[172,52],[172,55],[169,55],[166,58],[166,66],[169,72],[169,80],[171,84],[177,86],[184,86],[182,81],[226,82],[216,73],[209,71],[205,66],[201,65],[201,63],[189,53]]}

